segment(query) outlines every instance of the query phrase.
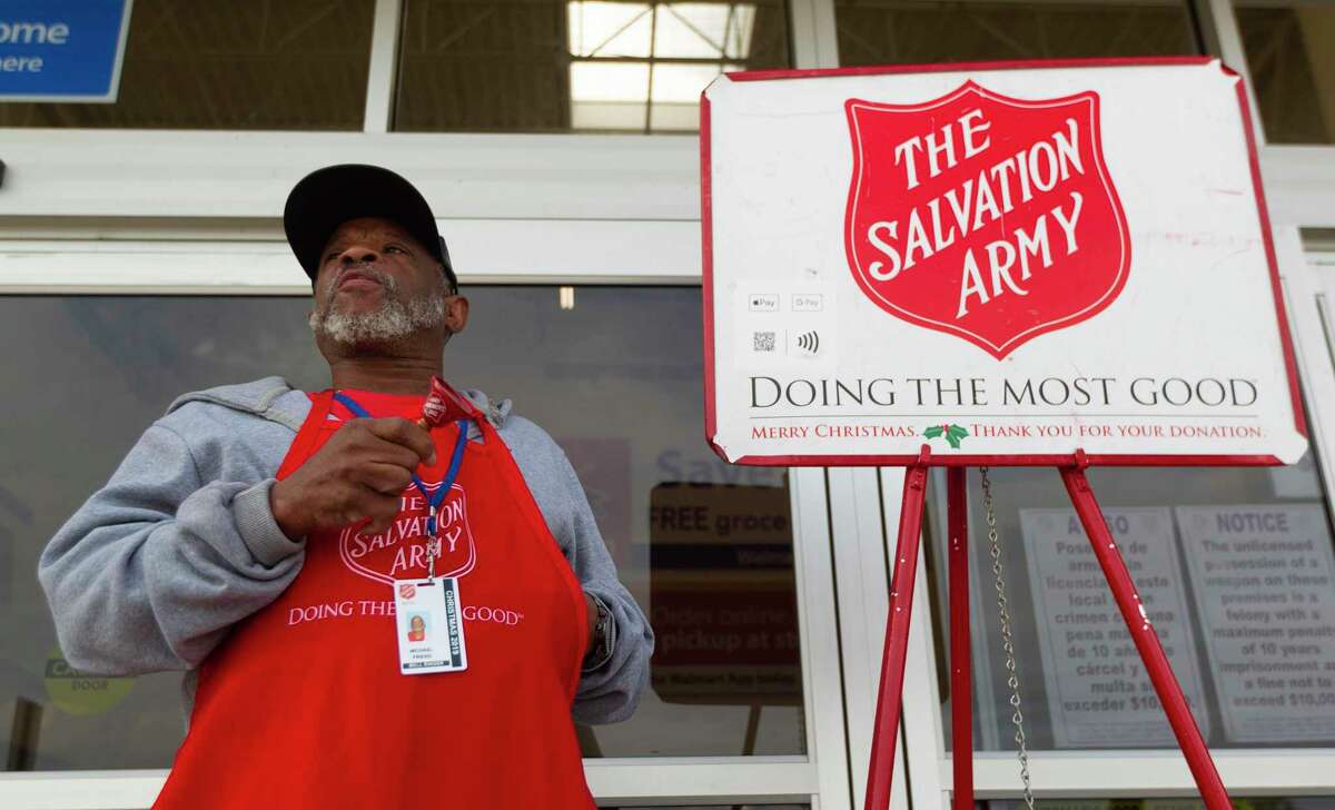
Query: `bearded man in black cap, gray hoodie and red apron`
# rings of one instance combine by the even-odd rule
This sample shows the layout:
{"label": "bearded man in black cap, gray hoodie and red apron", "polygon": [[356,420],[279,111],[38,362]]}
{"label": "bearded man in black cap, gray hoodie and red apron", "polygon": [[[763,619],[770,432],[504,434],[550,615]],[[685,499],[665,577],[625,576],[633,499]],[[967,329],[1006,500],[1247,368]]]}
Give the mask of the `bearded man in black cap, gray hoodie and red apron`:
{"label": "bearded man in black cap, gray hoodie and red apron", "polygon": [[434,380],[469,302],[413,185],[324,168],[283,224],[331,388],[148,428],[43,554],[65,657],[188,670],[158,807],[590,807],[571,715],[629,717],[653,635],[570,463]]}

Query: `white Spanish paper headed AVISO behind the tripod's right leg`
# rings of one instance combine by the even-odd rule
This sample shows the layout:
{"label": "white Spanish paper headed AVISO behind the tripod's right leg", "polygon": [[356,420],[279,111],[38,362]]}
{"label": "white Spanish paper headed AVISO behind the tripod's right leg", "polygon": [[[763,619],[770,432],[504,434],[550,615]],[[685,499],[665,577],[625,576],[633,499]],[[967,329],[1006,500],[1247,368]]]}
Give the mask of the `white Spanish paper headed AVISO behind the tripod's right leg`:
{"label": "white Spanish paper headed AVISO behind the tripod's right leg", "polygon": [[[1196,725],[1208,733],[1172,512],[1104,510]],[[1153,685],[1073,510],[1020,510],[1057,747],[1173,743]]]}

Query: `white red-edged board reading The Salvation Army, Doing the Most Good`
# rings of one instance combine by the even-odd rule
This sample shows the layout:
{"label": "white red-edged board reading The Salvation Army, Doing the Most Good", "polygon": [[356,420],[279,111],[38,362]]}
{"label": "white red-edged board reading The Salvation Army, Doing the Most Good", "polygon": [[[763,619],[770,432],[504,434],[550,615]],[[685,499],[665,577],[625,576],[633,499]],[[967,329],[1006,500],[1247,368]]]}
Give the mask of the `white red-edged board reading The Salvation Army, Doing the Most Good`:
{"label": "white red-edged board reading The Salvation Army, Doing the Most Good", "polygon": [[728,460],[1303,455],[1219,61],[736,73],[702,123],[706,431]]}

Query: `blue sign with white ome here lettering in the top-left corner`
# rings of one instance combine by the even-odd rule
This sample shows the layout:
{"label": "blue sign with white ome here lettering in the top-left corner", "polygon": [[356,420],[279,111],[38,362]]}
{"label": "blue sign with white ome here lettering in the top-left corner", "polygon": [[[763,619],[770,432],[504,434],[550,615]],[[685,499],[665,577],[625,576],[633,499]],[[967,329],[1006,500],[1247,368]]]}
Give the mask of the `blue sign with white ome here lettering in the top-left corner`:
{"label": "blue sign with white ome here lettering in the top-left corner", "polygon": [[0,0],[0,101],[115,101],[129,5]]}

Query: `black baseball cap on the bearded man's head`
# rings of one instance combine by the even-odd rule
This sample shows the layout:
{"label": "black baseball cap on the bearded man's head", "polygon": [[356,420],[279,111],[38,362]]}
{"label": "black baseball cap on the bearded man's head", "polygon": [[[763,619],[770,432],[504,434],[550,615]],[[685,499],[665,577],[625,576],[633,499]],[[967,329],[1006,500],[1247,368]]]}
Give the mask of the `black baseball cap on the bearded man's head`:
{"label": "black baseball cap on the bearded man's head", "polygon": [[287,195],[283,231],[312,284],[330,236],[343,223],[363,216],[391,220],[411,234],[445,268],[450,291],[458,292],[459,279],[450,264],[450,251],[422,192],[387,168],[359,163],[315,169]]}

